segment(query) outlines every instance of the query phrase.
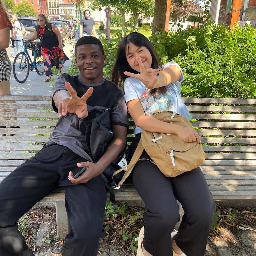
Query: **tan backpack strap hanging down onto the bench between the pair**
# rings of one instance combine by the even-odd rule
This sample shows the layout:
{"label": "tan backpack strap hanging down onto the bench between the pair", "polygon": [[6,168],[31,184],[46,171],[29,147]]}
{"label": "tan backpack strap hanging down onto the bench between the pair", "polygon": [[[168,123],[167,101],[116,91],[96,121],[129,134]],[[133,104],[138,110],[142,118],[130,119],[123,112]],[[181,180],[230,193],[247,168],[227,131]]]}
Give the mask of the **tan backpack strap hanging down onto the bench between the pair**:
{"label": "tan backpack strap hanging down onto the bench between the pair", "polygon": [[[117,170],[116,172],[113,173],[112,177],[114,177],[116,174],[118,174],[119,172],[122,172],[125,168],[127,168],[126,172],[124,173],[124,176],[123,176],[122,180],[117,185],[118,187],[121,186],[124,183],[124,181],[128,178],[128,176],[131,174],[135,164],[138,161],[141,161],[141,160],[151,161],[151,160],[149,160],[147,158],[140,158],[143,150],[144,150],[144,148],[142,146],[142,141],[140,139],[139,144],[138,144],[137,148],[135,149],[135,152],[134,152],[134,154],[132,156],[132,159],[131,159],[130,163],[128,165],[124,166],[122,169]],[[154,162],[152,162],[152,163],[154,163]]]}

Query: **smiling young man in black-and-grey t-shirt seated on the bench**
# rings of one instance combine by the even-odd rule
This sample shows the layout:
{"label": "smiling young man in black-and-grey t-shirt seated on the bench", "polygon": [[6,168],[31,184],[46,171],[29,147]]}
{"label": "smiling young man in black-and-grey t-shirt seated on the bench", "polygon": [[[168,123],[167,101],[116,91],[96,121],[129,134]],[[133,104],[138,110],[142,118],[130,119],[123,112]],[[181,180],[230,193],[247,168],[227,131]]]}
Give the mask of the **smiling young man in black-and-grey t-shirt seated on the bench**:
{"label": "smiling young man in black-and-grey t-shirt seated on the bench", "polygon": [[[75,55],[79,74],[63,74],[53,86],[52,105],[60,119],[49,141],[0,183],[1,256],[34,256],[16,221],[58,185],[65,189],[72,229],[62,256],[97,255],[106,203],[100,174],[125,147],[127,108],[122,89],[103,77],[105,55],[100,41],[92,36],[80,38]],[[88,161],[85,135],[77,126],[88,115],[87,104],[106,107],[111,113],[113,140],[97,163]],[[84,166],[87,170],[74,179],[73,172]]]}

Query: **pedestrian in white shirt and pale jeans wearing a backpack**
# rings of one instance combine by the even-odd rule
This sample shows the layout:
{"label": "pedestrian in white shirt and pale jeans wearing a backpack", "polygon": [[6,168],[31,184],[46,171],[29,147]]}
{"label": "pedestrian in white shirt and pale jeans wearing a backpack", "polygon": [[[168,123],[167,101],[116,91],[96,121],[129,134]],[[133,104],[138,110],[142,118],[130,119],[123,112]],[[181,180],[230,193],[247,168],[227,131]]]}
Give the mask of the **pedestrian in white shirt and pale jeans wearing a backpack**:
{"label": "pedestrian in white shirt and pale jeans wearing a backpack", "polygon": [[13,20],[12,38],[13,38],[13,40],[20,40],[20,42],[15,42],[13,54],[10,55],[10,58],[14,59],[18,53],[18,48],[20,49],[20,52],[24,51],[24,45],[22,42],[22,39],[23,39],[22,29],[20,26],[20,22],[18,20],[18,15],[16,13],[12,13],[12,20]]}

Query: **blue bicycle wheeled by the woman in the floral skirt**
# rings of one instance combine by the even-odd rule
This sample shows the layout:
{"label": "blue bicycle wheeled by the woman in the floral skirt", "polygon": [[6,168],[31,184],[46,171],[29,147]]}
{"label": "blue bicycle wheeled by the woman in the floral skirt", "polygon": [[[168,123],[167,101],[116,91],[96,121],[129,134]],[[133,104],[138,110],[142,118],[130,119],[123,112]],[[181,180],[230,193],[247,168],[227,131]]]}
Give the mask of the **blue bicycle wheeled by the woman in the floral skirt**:
{"label": "blue bicycle wheeled by the woman in the floral skirt", "polygon": [[[20,42],[20,40],[12,40],[12,46],[16,47],[14,45],[14,42]],[[41,47],[38,47],[36,42],[31,42],[27,40],[22,40],[24,45],[24,51],[18,53],[15,56],[15,59],[13,61],[13,75],[17,82],[24,83],[27,78],[29,71],[33,71],[33,69],[36,69],[36,73],[40,76],[44,74],[44,61],[41,56]],[[28,44],[28,45],[27,45]],[[32,50],[32,55],[34,56],[34,61],[31,60],[28,49]]]}

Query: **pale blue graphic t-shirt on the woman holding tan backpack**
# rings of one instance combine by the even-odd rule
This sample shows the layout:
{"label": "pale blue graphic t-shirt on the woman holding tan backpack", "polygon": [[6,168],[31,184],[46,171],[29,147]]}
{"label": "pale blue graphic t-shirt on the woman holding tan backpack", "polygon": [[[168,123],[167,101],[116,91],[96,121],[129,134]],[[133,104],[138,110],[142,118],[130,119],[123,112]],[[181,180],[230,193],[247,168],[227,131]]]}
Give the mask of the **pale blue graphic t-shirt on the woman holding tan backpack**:
{"label": "pale blue graphic t-shirt on the woman holding tan backpack", "polygon": [[[166,85],[166,92],[150,95],[150,90],[139,79],[129,77],[124,81],[125,101],[128,102],[130,100],[140,99],[147,116],[152,116],[158,109],[160,111],[176,111],[189,120],[191,116],[180,96],[180,84],[183,81],[182,70],[176,62],[172,61],[166,63],[163,69],[171,65],[177,66],[180,69],[181,75],[179,81],[174,81]],[[134,133],[137,134],[140,132],[142,132],[140,127],[135,127]]]}

